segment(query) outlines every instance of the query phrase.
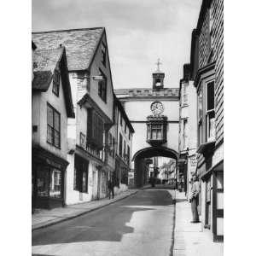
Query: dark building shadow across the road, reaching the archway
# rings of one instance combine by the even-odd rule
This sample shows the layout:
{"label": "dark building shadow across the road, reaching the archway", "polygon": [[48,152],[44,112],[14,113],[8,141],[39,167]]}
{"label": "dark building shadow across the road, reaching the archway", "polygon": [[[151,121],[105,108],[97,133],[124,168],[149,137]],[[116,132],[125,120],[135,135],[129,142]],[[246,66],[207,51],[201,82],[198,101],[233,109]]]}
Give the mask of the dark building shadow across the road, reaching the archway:
{"label": "dark building shadow across the road, reaching the archway", "polygon": [[83,241],[121,241],[123,235],[134,232],[134,228],[127,225],[134,212],[157,210],[157,207],[172,204],[172,195],[166,190],[141,190],[137,195],[99,211],[33,231],[32,246]]}

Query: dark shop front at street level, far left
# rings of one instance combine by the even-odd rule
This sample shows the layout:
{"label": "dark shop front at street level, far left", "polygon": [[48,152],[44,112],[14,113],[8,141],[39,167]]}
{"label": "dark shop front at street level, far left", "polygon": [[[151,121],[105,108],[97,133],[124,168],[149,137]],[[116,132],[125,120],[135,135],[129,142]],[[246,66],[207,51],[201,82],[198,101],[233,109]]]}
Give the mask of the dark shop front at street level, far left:
{"label": "dark shop front at street level, far left", "polygon": [[32,148],[32,208],[64,206],[67,160],[44,148]]}

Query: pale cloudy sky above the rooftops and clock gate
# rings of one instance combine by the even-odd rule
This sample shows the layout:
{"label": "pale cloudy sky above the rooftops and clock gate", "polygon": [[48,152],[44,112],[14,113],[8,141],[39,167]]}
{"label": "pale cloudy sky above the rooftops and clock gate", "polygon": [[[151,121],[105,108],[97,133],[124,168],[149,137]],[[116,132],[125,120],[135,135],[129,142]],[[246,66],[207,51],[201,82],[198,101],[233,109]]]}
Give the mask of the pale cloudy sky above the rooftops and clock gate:
{"label": "pale cloudy sky above the rooftops and clock gate", "polygon": [[158,58],[166,87],[178,87],[200,8],[201,0],[32,0],[32,31],[105,26],[114,89],[151,87]]}

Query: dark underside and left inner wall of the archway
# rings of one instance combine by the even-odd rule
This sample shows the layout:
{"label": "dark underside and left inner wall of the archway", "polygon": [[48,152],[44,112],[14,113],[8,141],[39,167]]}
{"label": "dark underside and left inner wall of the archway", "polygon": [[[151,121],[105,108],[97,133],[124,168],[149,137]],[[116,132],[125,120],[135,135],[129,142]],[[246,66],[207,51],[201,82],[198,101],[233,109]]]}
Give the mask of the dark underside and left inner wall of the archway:
{"label": "dark underside and left inner wall of the archway", "polygon": [[134,161],[134,184],[137,188],[141,188],[147,180],[146,172],[146,159],[154,156],[164,156],[175,159],[177,161],[178,154],[172,148],[166,147],[148,147],[137,151],[133,155],[132,161]]}

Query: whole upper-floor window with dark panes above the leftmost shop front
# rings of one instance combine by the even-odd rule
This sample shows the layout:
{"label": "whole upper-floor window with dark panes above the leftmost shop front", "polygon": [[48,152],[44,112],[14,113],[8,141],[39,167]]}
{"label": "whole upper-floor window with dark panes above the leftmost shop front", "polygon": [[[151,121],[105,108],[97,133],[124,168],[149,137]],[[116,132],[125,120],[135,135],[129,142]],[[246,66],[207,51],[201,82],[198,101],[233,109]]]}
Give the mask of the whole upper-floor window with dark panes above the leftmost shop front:
{"label": "whole upper-floor window with dark panes above the leftmost shop front", "polygon": [[61,114],[47,103],[47,143],[61,148]]}

